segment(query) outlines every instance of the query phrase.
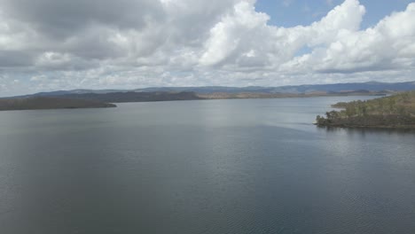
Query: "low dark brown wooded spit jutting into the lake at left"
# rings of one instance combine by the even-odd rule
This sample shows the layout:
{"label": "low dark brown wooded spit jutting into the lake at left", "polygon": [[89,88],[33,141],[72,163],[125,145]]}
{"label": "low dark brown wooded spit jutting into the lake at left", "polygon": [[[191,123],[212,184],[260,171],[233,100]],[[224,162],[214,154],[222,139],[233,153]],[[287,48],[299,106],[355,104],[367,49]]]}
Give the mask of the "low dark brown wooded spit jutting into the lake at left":
{"label": "low dark brown wooded spit jutting into the lake at left", "polygon": [[107,108],[116,107],[94,100],[76,98],[35,97],[35,98],[0,98],[0,111],[12,110],[44,110],[75,108]]}

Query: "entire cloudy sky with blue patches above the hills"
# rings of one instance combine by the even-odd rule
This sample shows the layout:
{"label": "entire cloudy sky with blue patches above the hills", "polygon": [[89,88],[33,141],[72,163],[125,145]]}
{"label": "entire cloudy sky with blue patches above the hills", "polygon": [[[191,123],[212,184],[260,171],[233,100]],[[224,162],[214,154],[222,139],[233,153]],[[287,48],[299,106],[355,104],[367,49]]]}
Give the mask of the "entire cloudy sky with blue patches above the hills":
{"label": "entire cloudy sky with blue patches above the hills", "polygon": [[0,0],[0,97],[415,81],[406,0]]}

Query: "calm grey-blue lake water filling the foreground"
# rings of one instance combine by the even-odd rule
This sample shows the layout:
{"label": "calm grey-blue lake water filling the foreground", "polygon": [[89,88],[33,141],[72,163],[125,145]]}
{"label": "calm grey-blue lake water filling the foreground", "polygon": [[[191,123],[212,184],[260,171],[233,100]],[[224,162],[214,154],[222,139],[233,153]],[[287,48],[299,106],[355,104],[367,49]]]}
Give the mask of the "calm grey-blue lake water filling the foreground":
{"label": "calm grey-blue lake water filling the foreground", "polygon": [[0,233],[415,233],[415,133],[354,98],[0,112]]}

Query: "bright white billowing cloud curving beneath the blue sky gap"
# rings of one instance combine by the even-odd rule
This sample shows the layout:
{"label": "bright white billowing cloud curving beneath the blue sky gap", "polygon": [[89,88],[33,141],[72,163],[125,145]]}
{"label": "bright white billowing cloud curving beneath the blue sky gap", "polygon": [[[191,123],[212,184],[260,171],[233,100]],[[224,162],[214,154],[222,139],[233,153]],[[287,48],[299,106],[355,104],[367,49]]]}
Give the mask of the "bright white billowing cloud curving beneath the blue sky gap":
{"label": "bright white billowing cloud curving beneath the blue sky gap", "polygon": [[242,2],[210,30],[200,65],[278,69],[304,46],[322,48],[336,41],[341,32],[357,31],[363,15],[364,7],[348,0],[308,27],[271,27],[268,15]]}

